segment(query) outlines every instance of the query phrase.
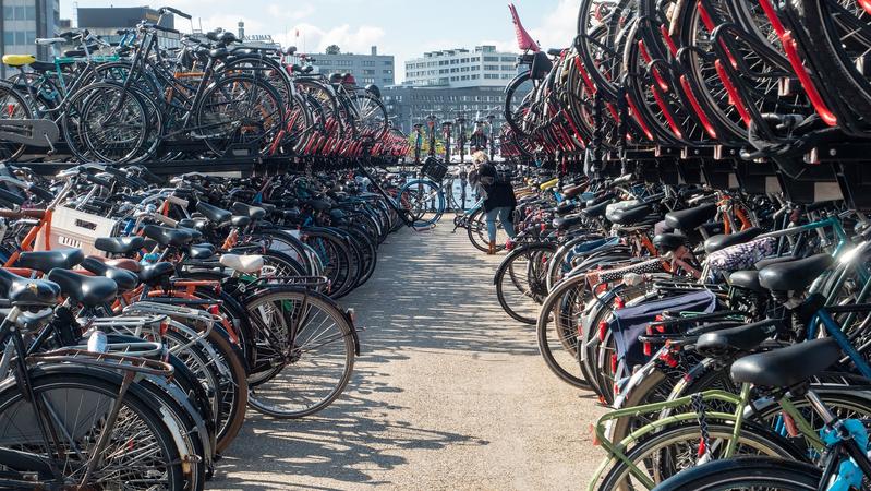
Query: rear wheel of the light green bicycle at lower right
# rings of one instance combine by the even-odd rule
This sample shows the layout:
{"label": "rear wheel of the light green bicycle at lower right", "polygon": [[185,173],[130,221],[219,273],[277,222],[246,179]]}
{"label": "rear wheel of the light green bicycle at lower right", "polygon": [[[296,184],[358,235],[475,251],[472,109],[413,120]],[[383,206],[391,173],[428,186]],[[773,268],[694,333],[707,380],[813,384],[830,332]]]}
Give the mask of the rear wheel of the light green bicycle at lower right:
{"label": "rear wheel of the light green bicycle at lower right", "polygon": [[[729,424],[711,423],[707,428],[707,446],[700,452],[701,427],[698,422],[681,423],[656,432],[642,441],[627,454],[641,474],[654,483],[660,483],[689,469],[705,459],[721,459],[727,444],[733,440],[734,428]],[[736,455],[794,456],[797,455],[788,441],[766,430],[745,424],[738,436]],[[615,465],[605,475],[601,491],[633,491],[649,489],[643,481],[630,474],[625,462]]]}

